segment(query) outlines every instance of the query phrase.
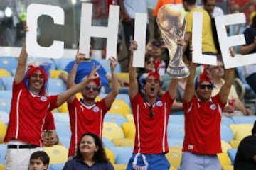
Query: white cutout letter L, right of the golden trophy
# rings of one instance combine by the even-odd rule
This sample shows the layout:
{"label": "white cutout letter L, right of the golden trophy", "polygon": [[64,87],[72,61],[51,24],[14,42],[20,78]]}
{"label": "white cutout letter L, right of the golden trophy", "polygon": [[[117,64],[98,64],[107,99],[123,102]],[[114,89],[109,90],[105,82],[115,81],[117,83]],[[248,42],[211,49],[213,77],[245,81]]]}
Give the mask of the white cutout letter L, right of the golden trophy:
{"label": "white cutout letter L, right of the golden trophy", "polygon": [[193,47],[192,61],[194,63],[199,63],[199,64],[217,65],[216,56],[202,54],[202,38],[203,38],[202,26],[203,26],[203,13],[194,12],[193,26],[192,26],[192,47]]}

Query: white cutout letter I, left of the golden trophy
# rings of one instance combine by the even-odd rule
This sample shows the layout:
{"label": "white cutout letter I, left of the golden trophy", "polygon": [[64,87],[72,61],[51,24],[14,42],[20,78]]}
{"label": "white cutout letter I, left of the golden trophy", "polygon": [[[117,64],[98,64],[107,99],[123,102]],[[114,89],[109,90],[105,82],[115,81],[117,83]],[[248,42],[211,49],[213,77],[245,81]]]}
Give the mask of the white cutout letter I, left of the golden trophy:
{"label": "white cutout letter I, left of the golden trophy", "polygon": [[137,50],[134,50],[132,67],[144,67],[146,49],[146,13],[135,13],[134,40]]}

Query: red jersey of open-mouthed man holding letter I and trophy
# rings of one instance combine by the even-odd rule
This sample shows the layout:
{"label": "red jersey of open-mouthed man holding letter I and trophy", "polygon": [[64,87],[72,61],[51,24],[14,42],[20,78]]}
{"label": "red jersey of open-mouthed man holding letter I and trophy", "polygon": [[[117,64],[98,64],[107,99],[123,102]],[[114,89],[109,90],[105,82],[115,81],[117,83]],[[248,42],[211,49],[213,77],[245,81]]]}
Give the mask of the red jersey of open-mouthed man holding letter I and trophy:
{"label": "red jersey of open-mouthed man holding letter I and trophy", "polygon": [[153,105],[154,118],[150,118],[150,109],[144,98],[137,93],[131,99],[134,123],[136,127],[134,153],[160,154],[169,152],[167,142],[167,124],[174,99],[168,91]]}

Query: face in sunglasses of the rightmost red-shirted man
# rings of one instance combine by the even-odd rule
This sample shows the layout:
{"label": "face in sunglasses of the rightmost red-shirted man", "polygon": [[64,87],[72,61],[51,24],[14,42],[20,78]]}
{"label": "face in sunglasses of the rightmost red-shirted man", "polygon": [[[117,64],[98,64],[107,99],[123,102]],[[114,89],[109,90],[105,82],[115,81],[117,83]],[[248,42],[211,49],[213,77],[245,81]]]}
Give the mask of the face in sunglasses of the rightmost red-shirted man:
{"label": "face in sunglasses of the rightmost red-shirted man", "polygon": [[201,101],[209,101],[212,91],[212,85],[208,81],[203,81],[198,85],[196,94]]}

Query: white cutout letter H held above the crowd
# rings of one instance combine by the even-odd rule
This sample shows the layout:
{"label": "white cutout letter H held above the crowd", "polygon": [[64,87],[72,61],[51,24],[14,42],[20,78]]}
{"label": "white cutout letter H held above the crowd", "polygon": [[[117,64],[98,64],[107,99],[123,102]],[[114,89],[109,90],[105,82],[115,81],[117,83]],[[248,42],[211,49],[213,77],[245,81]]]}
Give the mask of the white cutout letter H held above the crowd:
{"label": "white cutout letter H held above the crowd", "polygon": [[92,4],[83,3],[80,21],[80,52],[89,58],[90,37],[107,38],[106,58],[117,57],[119,6],[110,5],[108,26],[92,26]]}

